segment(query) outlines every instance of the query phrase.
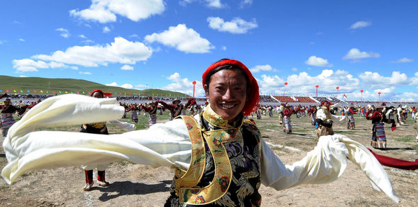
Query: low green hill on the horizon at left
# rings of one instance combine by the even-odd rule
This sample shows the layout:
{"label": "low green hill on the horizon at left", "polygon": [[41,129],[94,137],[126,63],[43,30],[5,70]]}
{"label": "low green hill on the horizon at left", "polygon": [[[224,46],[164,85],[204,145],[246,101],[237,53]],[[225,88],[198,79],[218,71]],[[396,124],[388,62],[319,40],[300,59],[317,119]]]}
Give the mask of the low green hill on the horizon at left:
{"label": "low green hill on the horizon at left", "polygon": [[[54,95],[65,93],[88,94],[89,91],[100,89],[111,92],[113,96],[171,96],[189,97],[185,93],[164,91],[160,89],[124,89],[116,86],[106,86],[83,79],[43,78],[43,77],[10,77],[0,75],[0,93]],[[8,91],[8,92],[7,92]]]}

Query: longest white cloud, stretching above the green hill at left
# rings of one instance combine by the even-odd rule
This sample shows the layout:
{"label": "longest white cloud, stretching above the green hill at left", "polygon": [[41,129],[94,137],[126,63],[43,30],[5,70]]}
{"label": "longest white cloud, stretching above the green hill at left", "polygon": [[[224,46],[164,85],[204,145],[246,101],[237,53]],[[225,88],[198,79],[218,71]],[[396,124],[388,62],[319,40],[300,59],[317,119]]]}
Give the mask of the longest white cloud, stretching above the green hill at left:
{"label": "longest white cloud, stretching above the green hill at left", "polygon": [[143,43],[131,42],[124,38],[114,38],[114,42],[104,46],[73,46],[64,52],[58,50],[52,55],[38,54],[33,59],[56,61],[85,67],[107,66],[108,63],[135,64],[146,61],[153,51]]}

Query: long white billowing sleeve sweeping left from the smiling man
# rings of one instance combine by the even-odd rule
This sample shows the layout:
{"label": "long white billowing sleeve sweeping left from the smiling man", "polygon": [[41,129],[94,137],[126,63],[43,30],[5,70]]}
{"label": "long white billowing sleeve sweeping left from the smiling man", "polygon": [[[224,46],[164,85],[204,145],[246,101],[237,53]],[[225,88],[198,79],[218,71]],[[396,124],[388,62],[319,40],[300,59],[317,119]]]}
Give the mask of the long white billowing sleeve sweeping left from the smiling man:
{"label": "long white billowing sleeve sweeping left from the smiling man", "polygon": [[121,135],[30,132],[30,129],[38,126],[115,120],[124,111],[116,100],[111,99],[86,95],[59,95],[54,98],[40,102],[10,128],[11,133],[3,141],[8,164],[1,171],[1,176],[6,183],[13,183],[25,171],[104,164],[116,160],[129,160],[153,167],[187,169],[189,166],[191,144],[181,119]]}

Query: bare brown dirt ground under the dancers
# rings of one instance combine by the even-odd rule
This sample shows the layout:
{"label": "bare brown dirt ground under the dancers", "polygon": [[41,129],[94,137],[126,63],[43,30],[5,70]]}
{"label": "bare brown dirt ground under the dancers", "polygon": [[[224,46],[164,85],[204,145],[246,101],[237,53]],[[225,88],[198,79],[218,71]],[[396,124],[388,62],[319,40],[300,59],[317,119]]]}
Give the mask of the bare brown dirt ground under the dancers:
{"label": "bare brown dirt ground under the dancers", "polygon": [[[278,125],[278,117],[263,116],[256,120],[274,152],[285,164],[302,159],[317,142],[314,127],[308,117],[292,116],[293,133],[284,134]],[[164,116],[164,120],[167,120]],[[162,118],[160,118],[162,120]],[[123,121],[128,121],[124,119]],[[369,147],[371,121],[356,117],[356,129],[347,130],[345,121],[334,123],[334,131],[355,139]],[[164,121],[158,121],[164,122]],[[381,155],[414,161],[418,158],[417,132],[408,118],[406,125],[394,132],[387,132],[385,151],[373,150]],[[120,131],[112,130],[111,133]],[[51,130],[51,129],[48,129]],[[52,130],[73,130],[54,128]],[[2,142],[2,140],[1,140]],[[3,148],[0,150],[0,166],[6,165]],[[288,190],[276,191],[261,186],[262,206],[417,206],[418,171],[407,171],[384,167],[392,180],[400,202],[395,204],[382,192],[373,190],[362,171],[349,162],[343,176],[322,185],[299,185]],[[93,185],[93,190],[84,192],[84,172],[80,167],[65,167],[29,171],[13,185],[0,181],[0,206],[163,206],[169,196],[173,171],[168,167],[152,168],[126,161],[113,162],[107,169],[109,187]],[[274,173],[274,172],[272,172]]]}

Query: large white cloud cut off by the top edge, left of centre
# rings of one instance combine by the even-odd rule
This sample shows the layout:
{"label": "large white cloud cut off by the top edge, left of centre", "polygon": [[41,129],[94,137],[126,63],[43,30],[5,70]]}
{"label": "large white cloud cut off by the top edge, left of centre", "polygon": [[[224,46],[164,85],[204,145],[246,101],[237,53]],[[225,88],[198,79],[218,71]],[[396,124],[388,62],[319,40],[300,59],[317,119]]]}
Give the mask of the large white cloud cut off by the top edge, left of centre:
{"label": "large white cloud cut off by the top edge, left of centre", "polygon": [[93,0],[90,8],[70,10],[70,15],[100,23],[116,22],[116,15],[138,22],[165,10],[162,0]]}

